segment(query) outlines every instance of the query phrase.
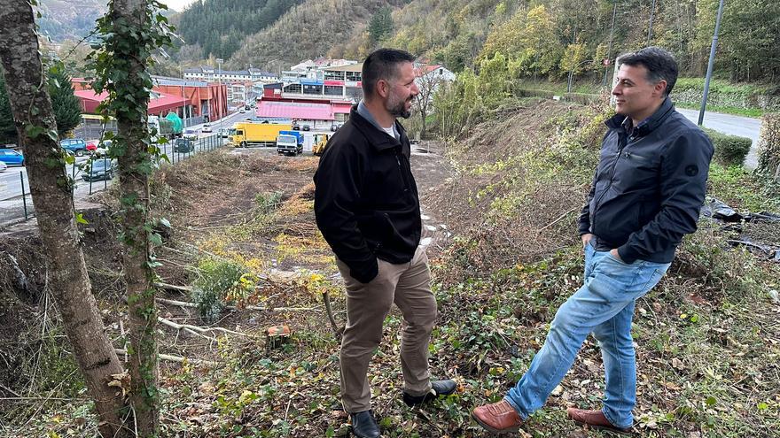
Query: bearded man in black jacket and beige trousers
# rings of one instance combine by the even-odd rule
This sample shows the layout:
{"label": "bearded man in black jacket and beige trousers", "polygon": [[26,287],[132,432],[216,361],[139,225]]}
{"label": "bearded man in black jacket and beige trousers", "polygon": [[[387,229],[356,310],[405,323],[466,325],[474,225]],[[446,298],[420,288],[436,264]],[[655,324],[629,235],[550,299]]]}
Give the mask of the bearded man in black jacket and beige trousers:
{"label": "bearded man in black jacket and beige trousers", "polygon": [[347,287],[347,328],[341,340],[341,402],[353,433],[377,437],[368,366],[395,303],[403,314],[403,401],[424,403],[452,394],[452,380],[428,373],[428,342],[436,299],[425,250],[409,138],[396,118],[409,117],[414,58],[380,49],[363,62],[363,101],[325,147],[314,175],[317,227],[336,254]]}

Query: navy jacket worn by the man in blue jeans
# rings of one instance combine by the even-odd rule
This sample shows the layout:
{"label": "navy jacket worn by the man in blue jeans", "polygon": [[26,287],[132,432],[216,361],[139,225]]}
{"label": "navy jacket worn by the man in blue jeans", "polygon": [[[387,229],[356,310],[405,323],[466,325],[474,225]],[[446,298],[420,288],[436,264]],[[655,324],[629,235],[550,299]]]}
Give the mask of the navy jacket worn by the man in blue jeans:
{"label": "navy jacket worn by the man in blue jeans", "polygon": [[597,250],[617,248],[628,264],[669,263],[683,235],[696,231],[713,145],[668,97],[630,134],[625,116],[606,126],[580,234],[595,234]]}

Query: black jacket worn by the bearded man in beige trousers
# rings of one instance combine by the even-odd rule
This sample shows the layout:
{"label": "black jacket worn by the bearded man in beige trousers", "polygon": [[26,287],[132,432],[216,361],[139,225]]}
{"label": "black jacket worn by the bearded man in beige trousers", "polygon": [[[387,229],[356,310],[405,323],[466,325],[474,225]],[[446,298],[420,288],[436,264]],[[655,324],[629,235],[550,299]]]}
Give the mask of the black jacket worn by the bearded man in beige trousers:
{"label": "black jacket worn by the bearded man in beige trousers", "polygon": [[380,131],[353,106],[333,134],[314,175],[316,223],[355,280],[378,273],[377,257],[407,263],[420,242],[417,185],[411,174],[409,137]]}

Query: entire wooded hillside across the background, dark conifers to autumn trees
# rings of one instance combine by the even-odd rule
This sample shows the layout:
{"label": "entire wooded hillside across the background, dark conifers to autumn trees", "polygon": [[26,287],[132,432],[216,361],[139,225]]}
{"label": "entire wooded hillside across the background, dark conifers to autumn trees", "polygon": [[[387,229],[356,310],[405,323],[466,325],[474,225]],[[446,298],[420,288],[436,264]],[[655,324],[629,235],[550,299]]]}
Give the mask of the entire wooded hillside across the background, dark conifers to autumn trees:
{"label": "entire wooded hillside across the background, dark conifers to autumn trees", "polygon": [[[516,78],[600,70],[603,58],[645,45],[675,52],[702,75],[718,0],[200,0],[175,20],[178,58],[230,59],[277,70],[317,56],[362,58],[379,46],[409,50],[454,71],[501,53]],[[780,2],[726,3],[716,73],[773,81],[780,73]]]}

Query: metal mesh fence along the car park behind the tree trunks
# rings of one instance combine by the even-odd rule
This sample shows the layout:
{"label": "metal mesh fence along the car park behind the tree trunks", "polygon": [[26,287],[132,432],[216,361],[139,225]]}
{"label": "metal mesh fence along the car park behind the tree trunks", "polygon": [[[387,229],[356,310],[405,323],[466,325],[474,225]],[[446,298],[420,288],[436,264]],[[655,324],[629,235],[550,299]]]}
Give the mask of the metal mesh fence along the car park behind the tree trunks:
{"label": "metal mesh fence along the car park behind the tree trunks", "polygon": [[[219,135],[209,135],[198,139],[175,139],[160,146],[163,158],[160,166],[177,165],[183,160],[191,158],[201,152],[207,152],[221,148],[227,139]],[[102,163],[97,163],[103,160]],[[93,172],[92,166],[103,169],[103,174]],[[118,174],[114,164],[109,163],[108,158],[92,156],[78,161],[66,168],[68,174],[74,180],[74,201],[82,200],[100,190],[109,188]],[[105,173],[112,173],[112,179],[108,179]],[[86,177],[86,178],[85,178]],[[99,178],[98,178],[99,177]],[[0,173],[0,225],[7,225],[20,220],[35,217],[33,199],[29,193],[27,181],[27,169],[24,167],[9,167],[4,173]]]}

